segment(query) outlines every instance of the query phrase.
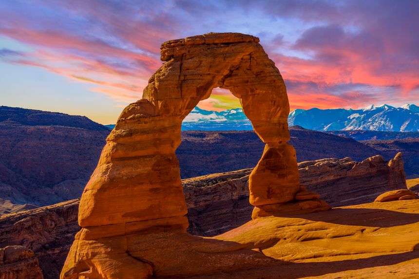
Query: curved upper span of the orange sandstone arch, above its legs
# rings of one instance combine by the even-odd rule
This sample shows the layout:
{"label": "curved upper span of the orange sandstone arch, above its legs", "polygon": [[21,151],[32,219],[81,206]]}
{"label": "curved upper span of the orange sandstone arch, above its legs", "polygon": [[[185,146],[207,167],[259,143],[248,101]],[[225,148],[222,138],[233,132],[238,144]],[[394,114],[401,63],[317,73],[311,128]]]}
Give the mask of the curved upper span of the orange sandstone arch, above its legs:
{"label": "curved upper span of the orange sandstone arch, above its legs", "polygon": [[289,140],[285,83],[259,38],[210,33],[171,40],[162,44],[161,59],[166,62],[143,93],[156,114],[183,119],[213,88],[220,87],[240,99],[264,142]]}

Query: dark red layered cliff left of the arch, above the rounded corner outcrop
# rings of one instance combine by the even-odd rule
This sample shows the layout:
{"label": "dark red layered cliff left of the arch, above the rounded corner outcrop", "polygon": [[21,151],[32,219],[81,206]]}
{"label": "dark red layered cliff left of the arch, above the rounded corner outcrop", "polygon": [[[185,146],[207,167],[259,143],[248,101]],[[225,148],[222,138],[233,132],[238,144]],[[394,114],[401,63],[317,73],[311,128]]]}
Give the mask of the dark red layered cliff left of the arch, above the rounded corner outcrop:
{"label": "dark red layered cliff left of the arch, above the rounded corner outcrop", "polygon": [[78,203],[73,200],[0,216],[0,247],[25,246],[35,253],[31,261],[38,265],[39,260],[44,278],[57,279],[79,230]]}

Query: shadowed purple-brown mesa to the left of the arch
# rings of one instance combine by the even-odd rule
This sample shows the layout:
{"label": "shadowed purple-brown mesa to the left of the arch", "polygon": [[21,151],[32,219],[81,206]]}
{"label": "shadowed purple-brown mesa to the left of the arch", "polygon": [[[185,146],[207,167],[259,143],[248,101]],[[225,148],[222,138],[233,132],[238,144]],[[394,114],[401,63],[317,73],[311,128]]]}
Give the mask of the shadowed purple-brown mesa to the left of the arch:
{"label": "shadowed purple-brown mesa to the left of the arch", "polygon": [[111,130],[84,116],[0,107],[0,215],[79,197]]}

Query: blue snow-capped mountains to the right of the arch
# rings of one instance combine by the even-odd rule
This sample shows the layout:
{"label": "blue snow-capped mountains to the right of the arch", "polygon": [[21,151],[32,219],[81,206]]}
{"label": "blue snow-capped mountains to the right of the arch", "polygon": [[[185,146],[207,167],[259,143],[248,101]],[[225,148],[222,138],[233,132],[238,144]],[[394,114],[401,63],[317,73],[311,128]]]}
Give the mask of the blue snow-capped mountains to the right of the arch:
{"label": "blue snow-capped mountains to the right of the arch", "polygon": [[300,125],[305,129],[330,130],[378,130],[418,131],[419,107],[404,104],[399,108],[389,105],[371,105],[360,110],[316,108],[288,117],[288,124]]}

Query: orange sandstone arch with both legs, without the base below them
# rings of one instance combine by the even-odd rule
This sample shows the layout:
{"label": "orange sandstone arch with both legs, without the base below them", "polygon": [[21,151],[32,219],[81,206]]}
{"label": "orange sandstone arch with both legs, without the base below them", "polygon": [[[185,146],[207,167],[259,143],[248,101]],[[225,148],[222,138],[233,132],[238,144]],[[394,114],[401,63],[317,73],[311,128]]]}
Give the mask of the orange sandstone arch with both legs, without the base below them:
{"label": "orange sandstone arch with both legs, without the base below them", "polygon": [[[166,61],[149,79],[143,99],[121,113],[80,202],[82,227],[151,220],[186,229],[175,149],[182,120],[213,88],[229,89],[266,143],[250,175],[255,206],[294,200],[300,189],[289,140],[284,80],[257,37],[210,33],[161,46]],[[109,206],[109,205],[113,206]]]}

